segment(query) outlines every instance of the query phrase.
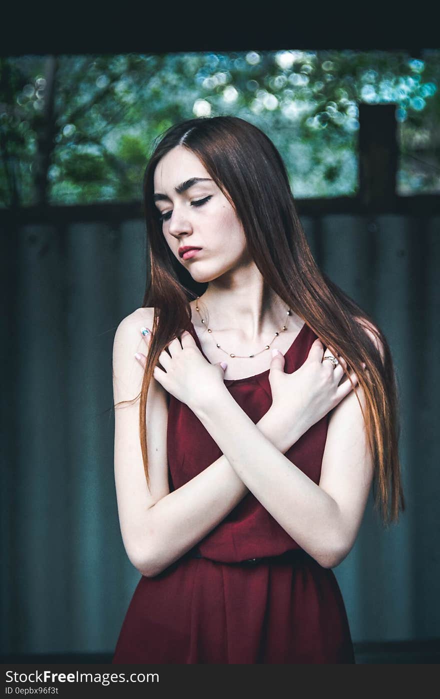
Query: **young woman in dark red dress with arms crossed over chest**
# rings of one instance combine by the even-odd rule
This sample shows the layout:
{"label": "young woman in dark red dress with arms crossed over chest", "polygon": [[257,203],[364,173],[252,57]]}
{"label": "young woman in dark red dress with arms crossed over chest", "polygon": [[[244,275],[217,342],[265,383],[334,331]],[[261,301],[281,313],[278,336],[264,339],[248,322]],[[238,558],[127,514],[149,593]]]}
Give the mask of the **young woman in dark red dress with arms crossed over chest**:
{"label": "young woman in dark red dress with arms crossed over chest", "polygon": [[150,275],[113,348],[118,512],[142,577],[113,663],[353,663],[332,568],[371,482],[385,524],[404,509],[388,344],[316,266],[253,125],[172,127],[144,197]]}

